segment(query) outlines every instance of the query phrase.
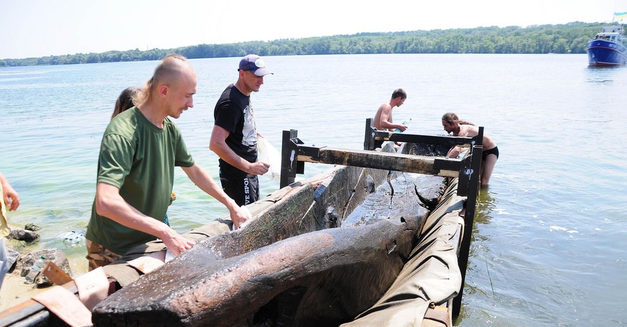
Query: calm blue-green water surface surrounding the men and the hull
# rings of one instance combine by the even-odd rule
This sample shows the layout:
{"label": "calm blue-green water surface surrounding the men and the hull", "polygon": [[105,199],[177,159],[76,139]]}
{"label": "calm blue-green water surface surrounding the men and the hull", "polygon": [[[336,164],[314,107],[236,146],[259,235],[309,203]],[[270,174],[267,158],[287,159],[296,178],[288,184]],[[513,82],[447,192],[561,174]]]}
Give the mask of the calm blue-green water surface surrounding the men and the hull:
{"label": "calm blue-green water surface surrounding the men and the hull", "polygon": [[[266,57],[274,75],[252,95],[258,129],[275,147],[297,129],[307,145],[361,150],[366,118],[405,88],[395,120],[443,134],[453,111],[486,127],[501,157],[481,192],[459,326],[626,326],[627,180],[623,150],[627,67],[587,67],[585,55],[362,55]],[[208,150],[213,107],[238,58],[192,60],[194,108],[176,123],[196,161]],[[20,192],[10,224],[42,226],[35,248],[62,248],[76,274],[95,193],[102,132],[114,101],[156,62],[0,69],[0,171]],[[305,166],[306,176],[328,168]],[[262,193],[278,182],[261,177]],[[173,228],[228,213],[178,171]]]}

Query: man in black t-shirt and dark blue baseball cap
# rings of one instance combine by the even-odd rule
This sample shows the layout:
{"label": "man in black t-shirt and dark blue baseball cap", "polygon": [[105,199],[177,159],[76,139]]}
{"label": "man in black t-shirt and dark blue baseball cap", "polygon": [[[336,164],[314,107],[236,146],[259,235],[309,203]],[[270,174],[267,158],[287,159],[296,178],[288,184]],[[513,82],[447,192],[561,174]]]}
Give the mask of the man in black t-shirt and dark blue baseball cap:
{"label": "man in black t-shirt and dark blue baseball cap", "polygon": [[258,92],[263,77],[273,73],[255,54],[242,58],[238,73],[238,81],[227,86],[215,104],[209,148],[220,158],[222,189],[242,206],[258,199],[257,175],[268,173],[270,167],[257,161],[258,134],[250,94]]}

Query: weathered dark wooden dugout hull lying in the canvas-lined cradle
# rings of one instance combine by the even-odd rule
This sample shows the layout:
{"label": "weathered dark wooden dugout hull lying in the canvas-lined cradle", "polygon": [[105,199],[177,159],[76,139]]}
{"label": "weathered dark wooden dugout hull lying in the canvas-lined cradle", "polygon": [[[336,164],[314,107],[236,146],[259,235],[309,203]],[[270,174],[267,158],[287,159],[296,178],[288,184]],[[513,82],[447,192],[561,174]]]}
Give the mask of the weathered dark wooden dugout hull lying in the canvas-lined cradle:
{"label": "weathered dark wooden dugout hull lying in the canvas-lined cradle", "polygon": [[[93,322],[338,326],[353,321],[396,280],[422,232],[426,206],[437,203],[444,188],[442,177],[419,177],[426,187],[408,183],[407,176],[398,177],[405,179],[399,183],[388,177],[385,170],[342,166],[284,191],[286,196],[243,230],[201,241],[109,296],[93,310]],[[385,203],[389,209],[362,209],[368,219],[335,228],[369,198],[375,207]]]}

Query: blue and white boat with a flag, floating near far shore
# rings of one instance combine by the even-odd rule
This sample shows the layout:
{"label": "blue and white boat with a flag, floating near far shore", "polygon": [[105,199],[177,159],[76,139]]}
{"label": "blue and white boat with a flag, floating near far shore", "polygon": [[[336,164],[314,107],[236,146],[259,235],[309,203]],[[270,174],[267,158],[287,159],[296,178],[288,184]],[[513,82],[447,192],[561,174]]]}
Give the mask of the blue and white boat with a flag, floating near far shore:
{"label": "blue and white boat with a flag, floating near far shore", "polygon": [[[627,13],[617,13],[617,15]],[[588,63],[591,66],[615,66],[627,63],[627,46],[621,24],[603,26],[603,31],[588,41]]]}

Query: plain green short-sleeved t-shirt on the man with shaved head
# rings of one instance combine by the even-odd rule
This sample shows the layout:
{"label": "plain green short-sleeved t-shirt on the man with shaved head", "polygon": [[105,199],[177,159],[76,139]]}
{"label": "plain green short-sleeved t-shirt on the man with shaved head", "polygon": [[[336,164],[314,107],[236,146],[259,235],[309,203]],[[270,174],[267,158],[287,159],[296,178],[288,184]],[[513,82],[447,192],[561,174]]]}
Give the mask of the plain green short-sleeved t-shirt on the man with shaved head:
{"label": "plain green short-sleeved t-shirt on the man with shaved head", "polygon": [[[174,166],[194,166],[180,130],[168,118],[160,129],[133,107],[117,115],[104,131],[98,159],[98,182],[114,185],[129,205],[164,221],[174,183]],[[100,216],[95,201],[85,237],[123,255],[156,239]]]}

